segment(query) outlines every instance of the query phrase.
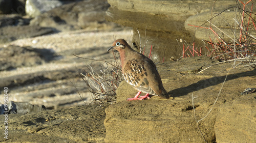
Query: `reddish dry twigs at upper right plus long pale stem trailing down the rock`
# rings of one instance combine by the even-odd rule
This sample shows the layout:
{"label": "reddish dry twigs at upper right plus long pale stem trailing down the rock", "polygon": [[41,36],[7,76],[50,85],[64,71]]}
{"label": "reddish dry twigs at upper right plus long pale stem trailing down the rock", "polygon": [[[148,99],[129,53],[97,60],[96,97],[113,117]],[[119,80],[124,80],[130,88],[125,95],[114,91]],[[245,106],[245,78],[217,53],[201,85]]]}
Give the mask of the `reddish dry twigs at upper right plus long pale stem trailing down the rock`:
{"label": "reddish dry twigs at upper right plus long pale stem trailing down the rock", "polygon": [[[243,6],[243,8],[241,6]],[[194,94],[192,93],[194,117],[197,122],[198,130],[199,130],[200,134],[202,135],[202,138],[204,139],[205,142],[207,142],[207,141],[200,129],[199,122],[204,120],[205,118],[207,118],[207,116],[211,112],[212,108],[214,108],[214,106],[215,106],[216,102],[218,101],[218,98],[221,94],[223,85],[225,84],[225,81],[226,81],[229,71],[233,68],[238,67],[238,65],[240,65],[241,63],[246,63],[243,65],[243,67],[247,67],[247,66],[250,66],[253,68],[256,67],[256,38],[250,34],[252,31],[256,32],[256,26],[255,26],[256,21],[251,16],[252,14],[255,15],[255,13],[252,12],[252,7],[253,7],[253,3],[251,0],[248,1],[246,4],[242,3],[240,0],[237,1],[237,7],[236,7],[237,15],[236,15],[236,18],[233,19],[234,20],[234,28],[231,28],[230,24],[227,23],[233,32],[232,36],[228,36],[223,31],[221,31],[220,28],[216,27],[214,25],[214,23],[211,23],[211,20],[213,18],[218,18],[218,16],[221,16],[221,13],[225,12],[229,8],[224,10],[223,12],[217,14],[216,16],[212,17],[210,20],[207,20],[205,23],[209,23],[208,27],[203,27],[203,25],[205,23],[200,26],[196,26],[198,28],[206,28],[207,30],[210,30],[212,33],[214,33],[214,37],[209,36],[209,41],[205,40],[205,48],[208,51],[206,53],[207,56],[211,56],[212,59],[223,60],[223,62],[233,62],[232,67],[228,70],[228,72],[226,74],[226,77],[222,83],[222,87],[219,91],[219,94],[216,97],[215,102],[212,104],[211,108],[206,113],[205,117],[203,117],[202,119],[197,119],[196,110],[194,107],[194,99],[197,97],[194,97]],[[194,26],[194,25],[191,25],[191,26]],[[239,27],[239,28],[236,28],[236,27]],[[222,38],[221,36],[218,35],[219,32],[224,33],[231,40],[225,41],[224,38]],[[237,32],[239,32],[239,36],[237,36],[237,34],[236,34]],[[231,38],[231,37],[234,37],[234,38]],[[202,53],[201,53],[202,48],[200,48],[200,51],[199,51],[198,48],[195,48],[195,44],[193,45],[193,47],[187,46],[186,50],[187,49],[189,49],[191,56],[195,56],[196,55],[195,53],[197,53],[198,56],[202,55]],[[185,50],[185,44],[183,44],[183,57],[182,58],[185,58],[186,50]],[[187,54],[187,55],[190,56],[189,54]],[[220,62],[220,63],[223,63],[223,62]],[[236,62],[238,62],[238,63],[240,62],[240,63],[236,64]],[[214,65],[211,65],[211,66],[214,66]],[[209,67],[211,67],[211,66],[209,66]],[[208,68],[206,68],[206,69],[208,69]],[[204,69],[204,70],[206,70],[206,69]],[[200,72],[202,72],[202,71],[200,71]]]}

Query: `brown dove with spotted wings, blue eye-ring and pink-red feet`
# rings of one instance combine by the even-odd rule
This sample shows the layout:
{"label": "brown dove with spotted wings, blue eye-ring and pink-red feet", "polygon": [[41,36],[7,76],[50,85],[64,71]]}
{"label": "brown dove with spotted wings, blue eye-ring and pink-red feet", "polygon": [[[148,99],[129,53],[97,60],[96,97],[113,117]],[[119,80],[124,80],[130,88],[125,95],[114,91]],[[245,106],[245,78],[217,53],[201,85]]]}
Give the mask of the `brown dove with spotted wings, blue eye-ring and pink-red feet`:
{"label": "brown dove with spotted wings, blue eye-ring and pink-red feet", "polygon": [[[148,95],[156,95],[164,99],[169,98],[157,67],[151,59],[132,49],[124,39],[114,41],[107,52],[111,49],[119,52],[122,75],[125,81],[138,91],[134,98],[128,98],[127,101],[150,99]],[[139,97],[141,92],[146,93],[146,95]]]}

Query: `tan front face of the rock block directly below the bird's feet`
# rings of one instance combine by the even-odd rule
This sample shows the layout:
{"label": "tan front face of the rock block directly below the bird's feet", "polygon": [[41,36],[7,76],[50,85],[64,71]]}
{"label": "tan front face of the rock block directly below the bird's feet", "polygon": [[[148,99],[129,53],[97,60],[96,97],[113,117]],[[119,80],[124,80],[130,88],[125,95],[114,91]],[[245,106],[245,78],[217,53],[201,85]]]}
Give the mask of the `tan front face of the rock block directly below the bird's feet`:
{"label": "tan front face of the rock block directly below the bird's feet", "polygon": [[[129,87],[126,82],[122,83],[120,90]],[[125,91],[126,94],[136,94],[132,88],[125,88]],[[131,94],[131,97],[134,95]],[[125,95],[118,96],[125,97]],[[122,101],[113,104],[105,110],[105,141],[204,142],[201,135],[198,134],[191,105],[189,100],[181,98],[164,100],[159,97],[153,97],[142,102]],[[212,129],[214,119],[215,116],[210,116],[209,119],[201,122],[201,126],[210,125],[208,130],[203,130],[203,133],[207,134],[205,138],[209,142],[215,140]]]}

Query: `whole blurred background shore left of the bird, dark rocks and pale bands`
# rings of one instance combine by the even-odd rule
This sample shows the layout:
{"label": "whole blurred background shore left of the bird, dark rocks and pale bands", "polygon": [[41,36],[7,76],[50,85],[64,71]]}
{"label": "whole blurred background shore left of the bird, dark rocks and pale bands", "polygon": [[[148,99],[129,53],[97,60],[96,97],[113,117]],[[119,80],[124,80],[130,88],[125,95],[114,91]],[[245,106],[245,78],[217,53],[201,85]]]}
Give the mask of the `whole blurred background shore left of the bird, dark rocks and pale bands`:
{"label": "whole blurred background shore left of the bird, dark rocks and pale bands", "polygon": [[[110,59],[112,54],[106,54],[106,49],[113,36],[129,41],[131,28],[106,22],[109,4],[103,0],[63,0],[65,5],[34,19],[22,15],[25,2],[15,1],[19,9],[0,15],[0,88],[8,88],[9,102],[43,104],[48,109],[92,102],[78,73],[87,70],[87,64],[100,69],[103,62],[86,61],[73,54]],[[3,92],[0,98],[4,98]]]}

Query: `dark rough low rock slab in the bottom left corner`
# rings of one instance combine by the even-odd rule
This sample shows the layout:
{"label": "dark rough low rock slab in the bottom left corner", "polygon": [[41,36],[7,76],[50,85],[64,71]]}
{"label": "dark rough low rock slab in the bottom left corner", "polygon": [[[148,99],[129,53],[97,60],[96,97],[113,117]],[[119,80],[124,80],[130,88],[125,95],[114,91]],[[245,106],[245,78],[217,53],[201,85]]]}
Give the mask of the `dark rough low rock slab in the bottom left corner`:
{"label": "dark rough low rock slab in the bottom left corner", "polygon": [[[76,106],[26,115],[8,115],[4,142],[104,142],[105,105]],[[1,123],[5,117],[0,116]],[[1,124],[1,129],[5,129]],[[1,132],[2,133],[2,132]]]}

